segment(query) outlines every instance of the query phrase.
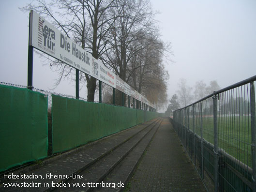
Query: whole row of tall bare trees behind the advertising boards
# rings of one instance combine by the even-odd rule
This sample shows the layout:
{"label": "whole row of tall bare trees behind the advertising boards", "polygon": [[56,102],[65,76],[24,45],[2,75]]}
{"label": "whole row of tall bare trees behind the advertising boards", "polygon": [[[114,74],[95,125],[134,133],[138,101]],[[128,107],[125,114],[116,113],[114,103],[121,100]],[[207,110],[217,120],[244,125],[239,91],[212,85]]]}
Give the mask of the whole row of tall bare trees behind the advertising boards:
{"label": "whole row of tall bare trees behind the advertising boards", "polygon": [[[125,82],[136,81],[136,90],[151,97],[152,103],[166,101],[168,73],[162,57],[168,46],[158,39],[150,0],[36,0],[23,10],[30,9],[47,18],[94,58],[102,59]],[[62,78],[73,79],[72,67],[55,59],[50,60],[50,65],[60,74],[56,85]],[[80,81],[87,82],[87,99],[94,101],[96,79],[80,73]],[[120,98],[119,91],[116,96]],[[121,104],[121,99],[116,103]]]}

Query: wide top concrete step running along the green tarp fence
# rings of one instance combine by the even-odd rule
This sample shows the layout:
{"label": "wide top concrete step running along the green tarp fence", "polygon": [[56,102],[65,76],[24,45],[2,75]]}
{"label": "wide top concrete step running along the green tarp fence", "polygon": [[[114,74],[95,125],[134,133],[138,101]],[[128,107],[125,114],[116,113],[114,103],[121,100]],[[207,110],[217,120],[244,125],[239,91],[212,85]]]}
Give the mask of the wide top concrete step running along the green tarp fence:
{"label": "wide top concrete step running along the green tarp fence", "polygon": [[[52,186],[52,183],[65,182],[68,180],[66,177],[78,175],[81,171],[99,161],[123,143],[129,141],[138,133],[151,126],[154,122],[155,120],[151,120],[139,124],[133,128],[105,137],[89,145],[70,150],[56,157],[45,159],[40,163],[42,166],[35,165],[33,167],[34,169],[25,167],[13,173],[6,173],[8,176],[18,175],[23,176],[23,178],[1,178],[0,191],[51,191],[55,189],[55,187]],[[32,176],[32,178],[24,178],[24,174],[29,177]],[[60,176],[64,176],[64,178],[61,178]],[[3,183],[33,183],[33,187],[4,187]]]}

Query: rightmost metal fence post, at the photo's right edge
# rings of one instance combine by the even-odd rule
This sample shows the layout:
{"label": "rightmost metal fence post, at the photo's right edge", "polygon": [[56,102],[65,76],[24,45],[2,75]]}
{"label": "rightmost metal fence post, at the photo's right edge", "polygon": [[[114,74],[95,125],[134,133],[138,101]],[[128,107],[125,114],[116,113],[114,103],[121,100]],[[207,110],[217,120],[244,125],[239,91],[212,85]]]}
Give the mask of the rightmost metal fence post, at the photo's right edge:
{"label": "rightmost metal fence post, at the photo's right edge", "polygon": [[255,88],[254,82],[250,83],[251,100],[251,131],[252,131],[252,168],[253,192],[256,192],[256,114],[255,114]]}

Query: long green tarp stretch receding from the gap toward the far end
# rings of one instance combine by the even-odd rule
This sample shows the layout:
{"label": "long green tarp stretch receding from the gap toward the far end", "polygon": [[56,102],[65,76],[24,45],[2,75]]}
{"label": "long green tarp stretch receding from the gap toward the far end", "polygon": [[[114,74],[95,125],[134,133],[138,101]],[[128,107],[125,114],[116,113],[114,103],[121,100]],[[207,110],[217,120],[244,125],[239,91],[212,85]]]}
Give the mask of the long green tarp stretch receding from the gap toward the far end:
{"label": "long green tarp stretch receding from the gap toward the far end", "polygon": [[155,112],[52,95],[53,153],[95,141],[158,116]]}

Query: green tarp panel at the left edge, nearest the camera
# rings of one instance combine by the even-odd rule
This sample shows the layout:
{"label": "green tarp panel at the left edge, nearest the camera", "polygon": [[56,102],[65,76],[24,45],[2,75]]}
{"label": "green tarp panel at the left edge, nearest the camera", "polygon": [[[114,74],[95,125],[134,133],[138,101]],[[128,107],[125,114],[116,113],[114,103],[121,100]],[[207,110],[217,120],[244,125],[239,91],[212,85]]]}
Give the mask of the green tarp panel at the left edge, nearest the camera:
{"label": "green tarp panel at the left edge, nearest the camera", "polygon": [[0,85],[0,171],[47,157],[47,96]]}

